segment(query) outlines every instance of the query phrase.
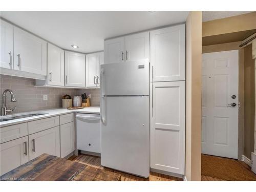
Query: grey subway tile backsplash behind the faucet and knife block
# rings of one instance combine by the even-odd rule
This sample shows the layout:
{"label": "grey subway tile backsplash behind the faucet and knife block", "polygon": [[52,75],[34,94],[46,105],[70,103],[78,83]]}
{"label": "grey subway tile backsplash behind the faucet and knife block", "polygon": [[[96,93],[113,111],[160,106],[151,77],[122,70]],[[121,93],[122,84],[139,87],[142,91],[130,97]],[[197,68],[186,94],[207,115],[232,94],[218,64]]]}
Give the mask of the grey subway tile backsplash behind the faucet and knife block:
{"label": "grey subway tile backsplash behind the faucet and knife block", "polygon": [[[82,93],[91,94],[91,106],[99,106],[99,89],[63,89],[49,87],[35,87],[35,79],[0,75],[0,101],[4,90],[11,89],[16,97],[16,102],[10,102],[10,94],[7,93],[6,106],[8,109],[16,110],[13,113],[47,110],[62,107],[61,97],[70,95],[72,97]],[[48,95],[48,100],[43,100],[43,95]],[[10,114],[10,113],[9,113]]]}

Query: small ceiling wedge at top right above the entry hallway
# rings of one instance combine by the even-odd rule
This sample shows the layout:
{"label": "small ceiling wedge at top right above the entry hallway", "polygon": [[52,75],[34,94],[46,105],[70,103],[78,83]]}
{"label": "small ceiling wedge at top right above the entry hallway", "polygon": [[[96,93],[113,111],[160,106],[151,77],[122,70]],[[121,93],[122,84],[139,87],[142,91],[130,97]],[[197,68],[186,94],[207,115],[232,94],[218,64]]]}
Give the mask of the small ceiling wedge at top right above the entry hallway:
{"label": "small ceiling wedge at top right above the entry hallway", "polygon": [[242,15],[250,12],[253,11],[202,11],[202,22],[208,22],[209,20]]}

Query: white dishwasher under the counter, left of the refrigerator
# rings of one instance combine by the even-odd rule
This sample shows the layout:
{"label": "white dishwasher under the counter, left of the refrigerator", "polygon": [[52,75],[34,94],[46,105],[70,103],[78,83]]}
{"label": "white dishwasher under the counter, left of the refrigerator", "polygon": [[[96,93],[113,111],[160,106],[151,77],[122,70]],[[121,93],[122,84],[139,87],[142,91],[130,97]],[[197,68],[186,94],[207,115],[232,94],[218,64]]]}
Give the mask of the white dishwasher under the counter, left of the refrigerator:
{"label": "white dishwasher under the counter, left of the refrigerator", "polygon": [[77,150],[100,153],[100,115],[76,115]]}

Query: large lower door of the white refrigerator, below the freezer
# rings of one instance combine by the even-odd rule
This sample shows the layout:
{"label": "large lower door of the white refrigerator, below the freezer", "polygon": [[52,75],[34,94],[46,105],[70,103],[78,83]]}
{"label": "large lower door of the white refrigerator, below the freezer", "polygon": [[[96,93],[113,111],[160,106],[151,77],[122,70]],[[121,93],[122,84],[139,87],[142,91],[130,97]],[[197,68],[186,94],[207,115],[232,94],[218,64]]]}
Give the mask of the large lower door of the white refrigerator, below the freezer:
{"label": "large lower door of the white refrigerator, below the freezer", "polygon": [[148,96],[102,98],[101,165],[149,176],[149,102]]}

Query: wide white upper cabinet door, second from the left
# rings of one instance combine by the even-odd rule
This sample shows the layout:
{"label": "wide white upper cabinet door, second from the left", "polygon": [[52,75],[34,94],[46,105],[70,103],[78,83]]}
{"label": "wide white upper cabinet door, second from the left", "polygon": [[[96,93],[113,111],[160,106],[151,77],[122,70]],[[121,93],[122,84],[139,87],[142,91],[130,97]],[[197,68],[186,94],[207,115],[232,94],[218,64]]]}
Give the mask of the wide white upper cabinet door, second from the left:
{"label": "wide white upper cabinet door, second from the left", "polygon": [[[19,56],[18,56],[19,55]],[[47,42],[14,27],[14,69],[46,75]]]}

